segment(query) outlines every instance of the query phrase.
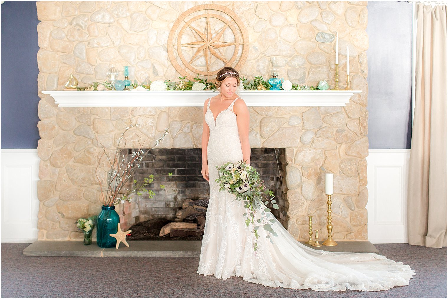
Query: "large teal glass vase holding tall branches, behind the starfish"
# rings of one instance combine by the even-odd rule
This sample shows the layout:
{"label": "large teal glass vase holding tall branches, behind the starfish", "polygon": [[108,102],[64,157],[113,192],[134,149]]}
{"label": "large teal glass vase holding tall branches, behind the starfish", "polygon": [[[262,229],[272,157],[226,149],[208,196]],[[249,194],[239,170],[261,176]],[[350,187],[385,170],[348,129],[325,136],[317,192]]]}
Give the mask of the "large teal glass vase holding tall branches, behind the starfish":
{"label": "large teal glass vase holding tall branches, behind the starfish", "polygon": [[96,243],[101,248],[116,246],[116,239],[109,234],[116,234],[120,216],[115,212],[115,206],[103,205],[98,215],[96,226]]}

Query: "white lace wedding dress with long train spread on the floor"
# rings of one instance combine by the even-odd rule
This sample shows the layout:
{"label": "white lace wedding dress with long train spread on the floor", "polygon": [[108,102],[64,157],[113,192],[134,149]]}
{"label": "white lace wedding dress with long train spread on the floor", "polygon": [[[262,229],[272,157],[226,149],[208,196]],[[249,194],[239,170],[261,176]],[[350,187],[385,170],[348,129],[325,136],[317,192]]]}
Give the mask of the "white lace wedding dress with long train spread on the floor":
{"label": "white lace wedding dress with long train spread on the floor", "polygon": [[[242,277],[264,286],[312,290],[388,290],[409,285],[415,275],[409,265],[375,253],[327,252],[298,242],[276,221],[273,244],[263,229],[258,230],[254,252],[252,226],[245,224],[244,204],[225,191],[218,191],[215,166],[241,161],[237,117],[233,104],[214,119],[207,104],[205,121],[210,127],[207,146],[210,201],[207,208],[198,273],[227,279]],[[260,218],[260,214],[255,219]],[[274,218],[275,219],[275,218]]]}

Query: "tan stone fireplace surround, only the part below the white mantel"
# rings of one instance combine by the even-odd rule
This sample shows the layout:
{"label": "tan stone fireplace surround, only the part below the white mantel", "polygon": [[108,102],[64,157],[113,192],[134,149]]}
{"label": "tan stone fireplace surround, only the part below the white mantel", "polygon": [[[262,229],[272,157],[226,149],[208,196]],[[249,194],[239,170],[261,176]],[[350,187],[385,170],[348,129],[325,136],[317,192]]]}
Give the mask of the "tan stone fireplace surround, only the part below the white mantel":
{"label": "tan stone fireplace surround, only the part below the white mantel", "polygon": [[[249,107],[252,148],[284,148],[284,180],[288,189],[288,231],[308,238],[307,216],[325,235],[324,173],[335,173],[333,225],[336,240],[366,240],[366,160],[368,143],[347,107]],[[39,239],[82,239],[75,219],[101,208],[96,138],[109,150],[129,124],[125,148],[199,148],[202,107],[57,107],[51,96],[39,102],[38,196]],[[351,129],[350,129],[351,128]],[[97,137],[96,137],[97,136]],[[149,139],[148,139],[149,137]],[[100,163],[101,165],[101,163]],[[104,166],[104,165],[102,165]],[[104,168],[107,169],[107,168]],[[121,209],[131,210],[126,205]],[[281,216],[280,216],[281,218]],[[124,219],[123,219],[124,220]]]}

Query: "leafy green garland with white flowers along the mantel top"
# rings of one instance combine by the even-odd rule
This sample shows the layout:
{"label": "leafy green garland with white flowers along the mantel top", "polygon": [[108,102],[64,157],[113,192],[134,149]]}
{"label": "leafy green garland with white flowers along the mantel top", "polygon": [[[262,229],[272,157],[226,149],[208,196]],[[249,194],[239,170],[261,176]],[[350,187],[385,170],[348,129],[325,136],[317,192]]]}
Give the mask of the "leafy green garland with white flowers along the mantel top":
{"label": "leafy green garland with white flowers along the mantel top", "polygon": [[[207,81],[207,79],[199,77],[194,78],[194,81],[185,80],[185,78],[186,76],[179,77],[181,81],[159,80],[159,82],[160,83],[164,82],[167,85],[167,90],[210,90],[210,91],[216,90],[215,82],[213,81]],[[242,82],[244,90],[269,90],[269,88],[271,88],[271,85],[267,80],[263,79],[263,76],[259,77],[255,76],[254,79],[252,80],[242,77],[240,78],[240,81]],[[134,83],[131,83],[131,85],[128,86],[128,88],[139,90],[150,90],[150,86],[151,81],[144,81],[142,84],[138,84],[137,80],[135,80]],[[284,90],[282,87],[280,88],[281,90]],[[329,85],[327,84],[327,82],[320,81],[318,86],[298,85],[291,83],[290,90],[327,90],[327,89],[329,89]],[[85,87],[77,87],[77,90],[114,90],[114,89],[112,88],[110,82],[104,81],[101,83],[93,82],[92,84]]]}

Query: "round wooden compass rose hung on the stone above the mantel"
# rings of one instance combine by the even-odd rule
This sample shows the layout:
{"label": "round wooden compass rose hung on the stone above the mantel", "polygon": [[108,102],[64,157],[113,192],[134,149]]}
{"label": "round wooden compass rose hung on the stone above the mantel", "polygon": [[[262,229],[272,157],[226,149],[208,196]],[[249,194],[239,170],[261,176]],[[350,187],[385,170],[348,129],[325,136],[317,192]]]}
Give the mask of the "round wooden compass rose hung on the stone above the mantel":
{"label": "round wooden compass rose hung on the stone above the mantel", "polygon": [[197,74],[214,76],[224,66],[239,70],[246,62],[248,46],[246,27],[232,10],[203,4],[177,18],[167,48],[177,72],[193,80]]}

